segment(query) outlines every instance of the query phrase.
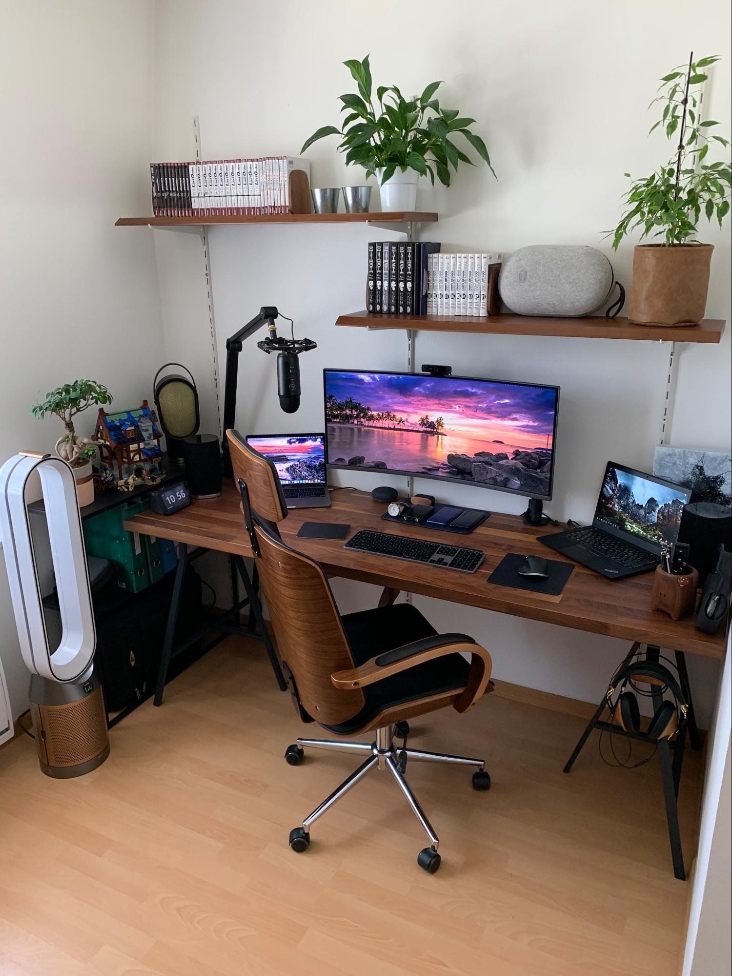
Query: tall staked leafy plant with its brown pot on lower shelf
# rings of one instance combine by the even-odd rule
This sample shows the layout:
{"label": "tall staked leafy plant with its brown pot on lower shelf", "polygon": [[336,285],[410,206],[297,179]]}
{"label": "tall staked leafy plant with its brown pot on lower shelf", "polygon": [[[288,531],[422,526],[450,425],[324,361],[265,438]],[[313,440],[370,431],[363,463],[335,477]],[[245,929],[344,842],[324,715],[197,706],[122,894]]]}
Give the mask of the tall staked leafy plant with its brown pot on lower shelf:
{"label": "tall staked leafy plant with its brown pot on lower shelf", "polygon": [[[710,129],[718,123],[702,119],[700,86],[704,68],[716,57],[689,58],[661,79],[661,118],[649,135],[663,126],[666,138],[678,140],[671,160],[649,177],[632,180],[625,196],[628,210],[615,228],[613,248],[636,227],[640,239],[663,238],[659,244],[639,244],[633,252],[629,318],[639,325],[697,325],[707,305],[712,244],[696,240],[702,213],[719,226],[729,214],[732,164],[709,162],[709,153],[729,142]],[[650,107],[650,106],[649,106]],[[630,177],[630,173],[626,173]]]}

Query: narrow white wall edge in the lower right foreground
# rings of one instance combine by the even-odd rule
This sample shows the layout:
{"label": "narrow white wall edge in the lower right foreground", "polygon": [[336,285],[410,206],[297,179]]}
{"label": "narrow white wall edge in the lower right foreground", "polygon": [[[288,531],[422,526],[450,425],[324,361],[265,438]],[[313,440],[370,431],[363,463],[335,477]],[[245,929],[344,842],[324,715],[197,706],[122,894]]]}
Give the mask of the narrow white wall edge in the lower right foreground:
{"label": "narrow white wall edge in the lower right foreground", "polygon": [[694,888],[682,976],[727,976],[730,952],[730,722],[732,720],[732,655],[727,658],[709,746],[702,822],[699,830]]}

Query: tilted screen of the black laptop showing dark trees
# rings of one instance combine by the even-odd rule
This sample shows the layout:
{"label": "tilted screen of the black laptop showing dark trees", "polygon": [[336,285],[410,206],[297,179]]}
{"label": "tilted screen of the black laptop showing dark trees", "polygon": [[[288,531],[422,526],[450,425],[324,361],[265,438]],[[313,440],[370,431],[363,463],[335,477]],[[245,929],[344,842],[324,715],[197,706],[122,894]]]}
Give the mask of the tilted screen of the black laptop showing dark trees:
{"label": "tilted screen of the black laptop showing dark trees", "polygon": [[690,497],[690,488],[610,461],[592,524],[660,553],[662,543],[675,545],[681,512]]}

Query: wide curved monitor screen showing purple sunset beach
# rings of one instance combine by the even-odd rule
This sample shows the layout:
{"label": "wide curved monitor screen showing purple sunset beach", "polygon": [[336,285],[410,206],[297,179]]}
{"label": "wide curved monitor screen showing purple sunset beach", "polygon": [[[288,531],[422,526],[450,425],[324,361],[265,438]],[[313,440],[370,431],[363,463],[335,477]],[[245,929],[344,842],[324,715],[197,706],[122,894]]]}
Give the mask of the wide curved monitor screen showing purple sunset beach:
{"label": "wide curved monitor screen showing purple sunset beach", "polygon": [[329,465],[551,498],[558,386],[323,372]]}

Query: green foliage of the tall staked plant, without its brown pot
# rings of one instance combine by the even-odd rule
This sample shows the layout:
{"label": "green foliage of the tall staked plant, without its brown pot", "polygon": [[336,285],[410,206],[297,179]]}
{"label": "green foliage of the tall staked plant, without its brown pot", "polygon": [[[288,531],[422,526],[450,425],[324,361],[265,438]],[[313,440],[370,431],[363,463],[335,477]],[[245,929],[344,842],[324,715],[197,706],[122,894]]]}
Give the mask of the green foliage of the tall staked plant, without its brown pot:
{"label": "green foliage of the tall staked plant, without its brown pot", "polygon": [[[710,130],[719,123],[702,120],[700,87],[707,80],[704,68],[719,59],[716,56],[679,65],[661,79],[659,93],[648,106],[663,104],[659,126],[666,138],[676,143],[676,151],[665,166],[648,177],[632,180],[625,194],[628,209],[615,228],[613,249],[636,227],[642,227],[640,239],[649,235],[663,237],[667,246],[695,240],[702,211],[708,221],[716,218],[719,226],[729,214],[730,171],[732,164],[705,162],[712,148],[727,149],[729,142]],[[630,178],[630,173],[626,173]]]}

